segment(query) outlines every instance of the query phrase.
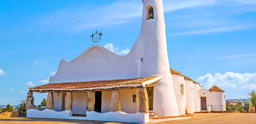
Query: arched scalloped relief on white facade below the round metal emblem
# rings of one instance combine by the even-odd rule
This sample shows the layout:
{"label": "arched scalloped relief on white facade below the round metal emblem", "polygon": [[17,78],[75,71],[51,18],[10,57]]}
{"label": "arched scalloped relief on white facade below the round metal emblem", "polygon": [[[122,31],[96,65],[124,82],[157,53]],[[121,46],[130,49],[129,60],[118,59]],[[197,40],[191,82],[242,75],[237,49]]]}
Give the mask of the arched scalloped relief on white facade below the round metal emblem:
{"label": "arched scalloped relief on white facade below the round metal emblem", "polygon": [[100,58],[105,58],[106,60],[110,61],[110,58],[106,54],[106,52],[104,52],[101,48],[94,47],[84,55],[84,57],[81,60],[81,63],[84,63],[84,61],[86,60],[100,59]]}

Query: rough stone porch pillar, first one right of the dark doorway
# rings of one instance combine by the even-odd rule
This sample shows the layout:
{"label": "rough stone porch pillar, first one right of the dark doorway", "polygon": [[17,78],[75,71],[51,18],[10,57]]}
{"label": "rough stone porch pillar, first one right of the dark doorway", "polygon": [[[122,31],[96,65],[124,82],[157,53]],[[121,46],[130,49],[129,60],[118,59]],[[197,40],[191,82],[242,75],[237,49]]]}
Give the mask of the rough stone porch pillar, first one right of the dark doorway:
{"label": "rough stone porch pillar, first one right of the dark doorway", "polygon": [[111,112],[121,111],[120,94],[118,90],[112,91],[110,111]]}

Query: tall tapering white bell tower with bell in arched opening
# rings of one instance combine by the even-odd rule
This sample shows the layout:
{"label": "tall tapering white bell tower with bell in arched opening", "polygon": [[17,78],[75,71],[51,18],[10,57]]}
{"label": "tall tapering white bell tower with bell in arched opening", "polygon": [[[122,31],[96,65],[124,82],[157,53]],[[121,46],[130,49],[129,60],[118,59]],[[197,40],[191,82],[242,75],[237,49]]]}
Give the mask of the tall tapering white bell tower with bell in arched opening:
{"label": "tall tapering white bell tower with bell in arched opening", "polygon": [[162,0],[144,0],[141,33],[145,46],[141,76],[162,76],[160,81],[152,84],[154,100],[151,112],[159,116],[179,116],[167,55]]}

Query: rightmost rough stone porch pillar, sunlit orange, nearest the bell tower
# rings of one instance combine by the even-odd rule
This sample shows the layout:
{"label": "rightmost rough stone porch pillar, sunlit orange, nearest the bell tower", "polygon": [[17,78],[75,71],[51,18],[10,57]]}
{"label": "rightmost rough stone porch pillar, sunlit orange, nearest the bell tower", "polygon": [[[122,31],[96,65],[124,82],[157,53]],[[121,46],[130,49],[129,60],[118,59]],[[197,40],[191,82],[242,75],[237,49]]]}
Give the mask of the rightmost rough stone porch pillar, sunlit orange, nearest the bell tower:
{"label": "rightmost rough stone porch pillar, sunlit orange, nearest the bell tower", "polygon": [[146,88],[139,89],[138,97],[139,97],[139,112],[140,113],[149,113],[148,93],[147,93]]}

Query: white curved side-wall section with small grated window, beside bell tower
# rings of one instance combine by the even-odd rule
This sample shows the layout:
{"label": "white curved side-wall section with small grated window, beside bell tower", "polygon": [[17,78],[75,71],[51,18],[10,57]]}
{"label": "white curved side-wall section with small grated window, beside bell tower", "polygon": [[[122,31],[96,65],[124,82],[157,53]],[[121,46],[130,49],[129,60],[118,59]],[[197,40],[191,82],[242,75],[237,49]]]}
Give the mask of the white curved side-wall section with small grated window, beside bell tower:
{"label": "white curved side-wall section with small grated window, beside bell tower", "polygon": [[[181,75],[172,75],[172,82],[175,92],[176,101],[179,108],[179,114],[185,114],[185,106],[186,106],[186,88],[185,88],[185,81],[184,77]],[[180,85],[183,84],[184,86],[184,95],[180,93]]]}

